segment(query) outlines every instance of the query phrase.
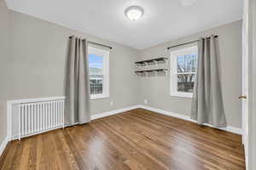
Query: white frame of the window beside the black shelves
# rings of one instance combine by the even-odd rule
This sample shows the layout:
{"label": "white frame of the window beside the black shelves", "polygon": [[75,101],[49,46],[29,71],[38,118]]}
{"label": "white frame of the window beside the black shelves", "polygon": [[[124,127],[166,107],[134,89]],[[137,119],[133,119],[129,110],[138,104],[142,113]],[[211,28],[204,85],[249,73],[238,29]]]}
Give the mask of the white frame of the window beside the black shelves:
{"label": "white frame of the window beside the black shelves", "polygon": [[[192,98],[193,93],[177,91],[177,57],[185,54],[198,54],[198,46],[179,48],[170,53],[170,95],[182,98]],[[183,74],[191,74],[196,72],[183,72]]]}

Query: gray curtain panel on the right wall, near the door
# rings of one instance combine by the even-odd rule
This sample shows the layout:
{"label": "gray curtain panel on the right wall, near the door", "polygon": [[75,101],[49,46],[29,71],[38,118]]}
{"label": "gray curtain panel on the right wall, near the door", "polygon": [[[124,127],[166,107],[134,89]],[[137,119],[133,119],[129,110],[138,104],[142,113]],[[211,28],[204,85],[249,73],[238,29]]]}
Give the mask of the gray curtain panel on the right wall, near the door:
{"label": "gray curtain panel on the right wall, near the door", "polygon": [[201,38],[190,117],[198,123],[226,127],[221,89],[218,38]]}

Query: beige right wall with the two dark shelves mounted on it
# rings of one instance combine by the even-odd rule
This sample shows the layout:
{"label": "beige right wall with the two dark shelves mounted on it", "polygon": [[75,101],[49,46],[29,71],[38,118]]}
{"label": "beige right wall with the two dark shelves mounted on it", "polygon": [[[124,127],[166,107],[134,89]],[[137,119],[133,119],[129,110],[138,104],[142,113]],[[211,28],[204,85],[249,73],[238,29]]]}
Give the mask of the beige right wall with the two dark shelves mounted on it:
{"label": "beige right wall with the two dark shelves mounted on it", "polygon": [[[224,109],[229,126],[241,127],[241,20],[141,51],[140,59],[169,56],[167,47],[216,34],[219,39]],[[170,96],[169,76],[140,78],[140,103],[148,99],[154,108],[189,116],[191,99]]]}

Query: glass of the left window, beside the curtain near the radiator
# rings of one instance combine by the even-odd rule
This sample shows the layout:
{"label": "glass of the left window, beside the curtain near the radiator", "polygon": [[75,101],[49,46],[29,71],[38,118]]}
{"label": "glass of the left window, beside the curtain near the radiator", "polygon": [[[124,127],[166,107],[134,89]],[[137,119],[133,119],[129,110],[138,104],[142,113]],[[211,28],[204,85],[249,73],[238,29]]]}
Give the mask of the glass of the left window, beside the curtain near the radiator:
{"label": "glass of the left window, beside the curtain near the radiator", "polygon": [[89,54],[90,94],[103,93],[103,57]]}

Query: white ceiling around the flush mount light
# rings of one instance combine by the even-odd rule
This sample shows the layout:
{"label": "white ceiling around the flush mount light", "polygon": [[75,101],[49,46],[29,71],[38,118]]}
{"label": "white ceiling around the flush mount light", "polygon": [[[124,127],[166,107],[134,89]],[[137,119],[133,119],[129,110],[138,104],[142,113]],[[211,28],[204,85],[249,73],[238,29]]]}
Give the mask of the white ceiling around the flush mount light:
{"label": "white ceiling around the flush mount light", "polygon": [[[6,0],[9,8],[143,49],[242,18],[242,0]],[[186,3],[189,4],[189,3]],[[128,20],[125,8],[144,8]]]}

